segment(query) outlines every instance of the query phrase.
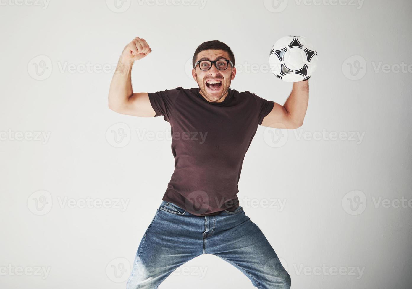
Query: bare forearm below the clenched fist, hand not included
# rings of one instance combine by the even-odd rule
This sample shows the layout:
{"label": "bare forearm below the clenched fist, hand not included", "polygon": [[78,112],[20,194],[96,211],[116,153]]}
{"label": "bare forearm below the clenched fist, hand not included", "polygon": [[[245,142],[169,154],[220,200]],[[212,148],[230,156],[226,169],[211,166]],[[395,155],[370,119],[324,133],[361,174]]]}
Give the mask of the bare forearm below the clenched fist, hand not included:
{"label": "bare forearm below the clenched fist, hand not included", "polygon": [[133,61],[119,58],[109,89],[109,107],[116,108],[127,103],[133,94],[131,85],[131,69]]}

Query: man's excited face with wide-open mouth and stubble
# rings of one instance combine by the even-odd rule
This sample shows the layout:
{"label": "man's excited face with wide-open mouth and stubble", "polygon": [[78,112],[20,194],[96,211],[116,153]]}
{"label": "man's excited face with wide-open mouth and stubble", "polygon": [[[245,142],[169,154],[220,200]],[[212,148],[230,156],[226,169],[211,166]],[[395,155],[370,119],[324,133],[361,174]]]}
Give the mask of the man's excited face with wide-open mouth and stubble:
{"label": "man's excited face with wide-open mouth and stubble", "polygon": [[[199,60],[220,60],[229,59],[229,54],[224,50],[203,50],[197,55],[196,61]],[[232,67],[229,63],[226,70],[219,70],[215,64],[212,64],[211,69],[201,70],[199,64],[192,69],[192,76],[199,85],[200,94],[208,99],[208,101],[222,102],[222,97],[227,95],[227,89],[229,89],[230,83],[236,75],[236,68]],[[219,84],[209,84],[213,80],[220,80]]]}

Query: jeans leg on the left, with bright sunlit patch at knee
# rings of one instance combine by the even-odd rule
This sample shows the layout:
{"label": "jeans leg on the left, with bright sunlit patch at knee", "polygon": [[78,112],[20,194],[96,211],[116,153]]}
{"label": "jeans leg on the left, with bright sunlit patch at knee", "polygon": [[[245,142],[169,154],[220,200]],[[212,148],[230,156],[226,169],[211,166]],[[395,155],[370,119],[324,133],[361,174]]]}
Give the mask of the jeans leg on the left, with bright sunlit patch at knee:
{"label": "jeans leg on the left, with bright sunlit patch at knee", "polygon": [[196,239],[187,217],[161,208],[140,241],[127,289],[157,288],[176,268],[201,255],[203,241]]}

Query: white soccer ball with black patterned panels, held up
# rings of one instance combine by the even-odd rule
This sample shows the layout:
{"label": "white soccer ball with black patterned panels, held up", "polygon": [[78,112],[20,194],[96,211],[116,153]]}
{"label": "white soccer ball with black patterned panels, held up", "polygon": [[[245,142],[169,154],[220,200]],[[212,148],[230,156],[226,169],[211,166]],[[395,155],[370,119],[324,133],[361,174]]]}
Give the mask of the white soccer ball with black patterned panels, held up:
{"label": "white soccer ball with black patterned panels, held up", "polygon": [[318,53],[306,37],[282,37],[270,50],[274,75],[286,82],[307,80],[318,66]]}

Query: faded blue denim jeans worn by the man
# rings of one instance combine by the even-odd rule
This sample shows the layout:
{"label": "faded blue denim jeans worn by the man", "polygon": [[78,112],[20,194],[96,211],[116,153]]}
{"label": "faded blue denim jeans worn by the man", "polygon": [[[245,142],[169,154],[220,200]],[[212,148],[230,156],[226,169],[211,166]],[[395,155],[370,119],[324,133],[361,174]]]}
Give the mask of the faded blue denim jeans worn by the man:
{"label": "faded blue denim jeans worn by the man", "polygon": [[195,216],[164,200],[140,241],[126,288],[156,289],[176,268],[203,254],[229,262],[260,289],[290,288],[290,275],[241,206]]}

